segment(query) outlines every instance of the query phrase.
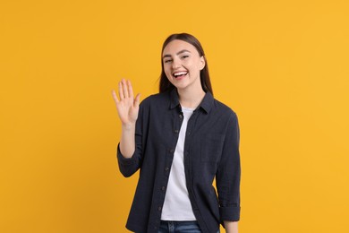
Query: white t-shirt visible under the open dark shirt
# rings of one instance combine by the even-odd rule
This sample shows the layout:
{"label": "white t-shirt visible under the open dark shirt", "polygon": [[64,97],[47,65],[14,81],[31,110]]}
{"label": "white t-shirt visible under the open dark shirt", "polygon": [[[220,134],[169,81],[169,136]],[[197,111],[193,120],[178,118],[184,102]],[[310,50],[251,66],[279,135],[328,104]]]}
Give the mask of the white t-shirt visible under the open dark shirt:
{"label": "white t-shirt visible under the open dark shirt", "polygon": [[184,173],[184,140],[189,118],[194,109],[182,108],[183,123],[174,151],[174,160],[168,178],[165,203],[162,208],[161,220],[196,220],[189,200]]}

